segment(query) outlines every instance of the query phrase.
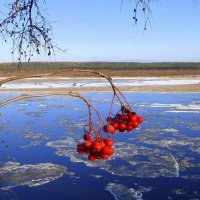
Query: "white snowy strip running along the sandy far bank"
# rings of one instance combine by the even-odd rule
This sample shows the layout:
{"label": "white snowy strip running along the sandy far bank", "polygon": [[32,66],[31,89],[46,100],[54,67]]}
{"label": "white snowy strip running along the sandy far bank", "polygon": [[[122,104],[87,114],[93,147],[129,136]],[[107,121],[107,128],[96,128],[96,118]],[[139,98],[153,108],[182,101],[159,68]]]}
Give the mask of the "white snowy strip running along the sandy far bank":
{"label": "white snowy strip running along the sandy far bank", "polygon": [[[113,83],[119,87],[139,87],[139,86],[183,86],[199,85],[200,78],[115,78]],[[26,79],[25,81],[8,82],[1,86],[3,89],[56,89],[56,88],[87,88],[87,87],[108,87],[110,84],[105,79],[70,79],[70,78],[37,78]]]}

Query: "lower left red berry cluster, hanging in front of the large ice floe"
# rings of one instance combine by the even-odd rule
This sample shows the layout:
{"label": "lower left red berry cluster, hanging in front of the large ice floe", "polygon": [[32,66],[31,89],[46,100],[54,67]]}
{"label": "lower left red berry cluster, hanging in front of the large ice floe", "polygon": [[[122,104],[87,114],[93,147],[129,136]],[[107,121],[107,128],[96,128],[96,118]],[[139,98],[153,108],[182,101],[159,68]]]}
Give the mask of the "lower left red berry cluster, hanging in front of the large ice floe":
{"label": "lower left red berry cluster, hanging in front of the large ice floe", "polygon": [[92,140],[91,133],[85,133],[83,136],[85,142],[77,144],[77,152],[79,154],[87,153],[88,159],[94,161],[96,159],[108,159],[114,154],[113,140],[110,138],[99,138]]}

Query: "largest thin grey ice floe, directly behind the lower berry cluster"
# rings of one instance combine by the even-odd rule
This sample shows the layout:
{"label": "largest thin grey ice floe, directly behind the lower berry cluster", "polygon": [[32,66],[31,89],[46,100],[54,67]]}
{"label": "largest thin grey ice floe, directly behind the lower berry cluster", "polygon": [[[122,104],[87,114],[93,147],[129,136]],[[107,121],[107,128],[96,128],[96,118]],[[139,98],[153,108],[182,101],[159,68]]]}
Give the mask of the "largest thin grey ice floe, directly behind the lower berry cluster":
{"label": "largest thin grey ice floe, directly behind the lower berry cluster", "polygon": [[73,138],[48,142],[56,149],[56,155],[69,157],[72,162],[83,162],[89,167],[98,167],[114,175],[156,178],[178,177],[179,166],[175,158],[164,150],[147,148],[123,142],[115,143],[115,154],[109,160],[88,161],[87,155],[76,152]]}

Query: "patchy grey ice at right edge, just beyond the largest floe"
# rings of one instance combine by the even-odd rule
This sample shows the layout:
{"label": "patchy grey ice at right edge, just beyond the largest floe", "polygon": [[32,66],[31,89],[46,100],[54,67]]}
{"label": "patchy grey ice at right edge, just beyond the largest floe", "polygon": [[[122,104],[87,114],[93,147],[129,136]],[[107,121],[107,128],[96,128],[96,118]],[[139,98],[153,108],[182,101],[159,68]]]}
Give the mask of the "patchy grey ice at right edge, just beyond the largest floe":
{"label": "patchy grey ice at right edge, just beyond the largest floe", "polygon": [[[154,130],[154,129],[153,129]],[[153,145],[155,148],[164,148],[173,152],[181,172],[188,168],[200,167],[200,138],[191,138],[181,133],[171,132],[164,137],[162,132],[146,129],[133,138],[133,142],[139,144]],[[193,156],[191,156],[191,154]],[[189,175],[189,174],[188,174]],[[190,174],[188,177],[192,177]]]}

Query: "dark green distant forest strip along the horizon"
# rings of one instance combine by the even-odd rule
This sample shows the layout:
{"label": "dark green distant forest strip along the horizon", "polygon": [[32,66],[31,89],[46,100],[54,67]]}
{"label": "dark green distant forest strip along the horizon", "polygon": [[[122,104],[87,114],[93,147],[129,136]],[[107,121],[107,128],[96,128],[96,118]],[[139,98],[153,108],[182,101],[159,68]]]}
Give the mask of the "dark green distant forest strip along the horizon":
{"label": "dark green distant forest strip along the horizon", "polygon": [[[1,63],[0,72],[17,69],[18,63]],[[200,63],[193,62],[27,62],[21,70],[63,70],[63,69],[90,69],[90,70],[200,70]]]}

